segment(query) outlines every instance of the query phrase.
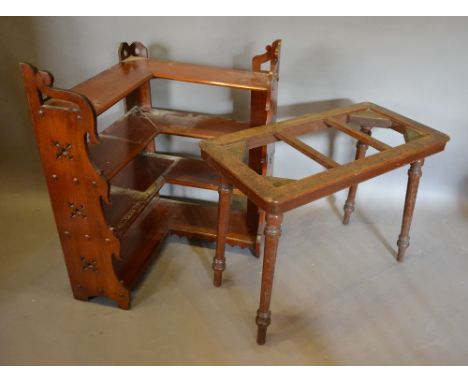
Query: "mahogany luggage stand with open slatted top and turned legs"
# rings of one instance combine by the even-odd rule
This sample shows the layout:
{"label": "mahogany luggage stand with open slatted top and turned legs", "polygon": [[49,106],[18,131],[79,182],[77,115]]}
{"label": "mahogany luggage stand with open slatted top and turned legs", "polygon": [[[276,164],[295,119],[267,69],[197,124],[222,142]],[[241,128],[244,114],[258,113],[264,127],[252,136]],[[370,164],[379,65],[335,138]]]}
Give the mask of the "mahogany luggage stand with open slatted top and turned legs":
{"label": "mahogany luggage stand with open slatted top and turned legs", "polygon": [[[358,125],[360,130],[351,125]],[[340,165],[297,138],[298,135],[332,128],[357,139],[354,161]],[[403,135],[405,143],[391,147],[374,139],[371,136],[374,128],[395,130]],[[228,232],[229,205],[233,186],[266,212],[260,306],[256,317],[258,344],[265,343],[267,327],[271,321],[270,300],[283,214],[349,187],[343,219],[343,223],[347,224],[354,209],[358,183],[411,164],[408,171],[403,222],[397,242],[397,260],[403,261],[405,251],[409,246],[409,230],[424,158],[442,151],[448,140],[447,135],[392,111],[371,103],[360,103],[227,134],[200,143],[203,158],[221,175],[218,237],[214,257],[214,263],[217,265],[214,268],[215,286],[221,285],[222,272],[225,268],[225,238]],[[276,141],[286,142],[317,161],[326,170],[300,180],[291,180],[261,176],[244,163],[244,154],[247,150]],[[364,158],[368,146],[380,152]]]}

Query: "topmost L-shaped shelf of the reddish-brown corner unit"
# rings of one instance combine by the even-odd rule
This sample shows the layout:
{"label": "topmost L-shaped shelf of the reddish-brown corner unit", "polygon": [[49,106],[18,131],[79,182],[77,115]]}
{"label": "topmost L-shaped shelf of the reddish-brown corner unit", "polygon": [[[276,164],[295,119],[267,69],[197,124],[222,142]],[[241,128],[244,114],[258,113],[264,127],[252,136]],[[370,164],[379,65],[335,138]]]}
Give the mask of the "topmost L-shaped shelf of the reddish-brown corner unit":
{"label": "topmost L-shaped shelf of the reddish-brown corner unit", "polygon": [[266,72],[132,58],[70,90],[86,96],[99,115],[152,78],[257,91],[267,91],[271,83],[271,76]]}

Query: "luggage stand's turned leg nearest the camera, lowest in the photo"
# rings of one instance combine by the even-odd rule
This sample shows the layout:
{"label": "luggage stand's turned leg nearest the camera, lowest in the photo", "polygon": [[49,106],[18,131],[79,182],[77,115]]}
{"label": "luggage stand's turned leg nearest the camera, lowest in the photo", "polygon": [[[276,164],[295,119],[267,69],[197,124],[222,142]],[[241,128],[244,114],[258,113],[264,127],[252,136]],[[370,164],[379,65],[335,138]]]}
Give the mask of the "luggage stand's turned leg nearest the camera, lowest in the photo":
{"label": "luggage stand's turned leg nearest the camera, lowest in the photo", "polygon": [[257,310],[257,343],[263,345],[268,325],[271,322],[270,301],[275,273],[276,250],[281,236],[283,215],[266,215],[265,250],[263,254],[262,286],[260,290],[260,307]]}

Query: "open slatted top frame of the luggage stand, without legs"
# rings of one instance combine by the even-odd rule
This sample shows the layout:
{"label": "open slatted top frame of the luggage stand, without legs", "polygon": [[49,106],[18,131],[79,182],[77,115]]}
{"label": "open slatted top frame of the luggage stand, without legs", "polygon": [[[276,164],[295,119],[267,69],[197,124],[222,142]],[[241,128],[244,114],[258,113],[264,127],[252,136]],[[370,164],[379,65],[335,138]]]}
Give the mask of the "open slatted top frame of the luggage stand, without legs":
{"label": "open slatted top frame of the luggage stand, without legs", "polygon": [[[405,143],[391,147],[352,125],[390,128]],[[367,158],[340,165],[305,144],[297,136],[334,128],[379,151]],[[260,208],[280,213],[332,194],[352,184],[440,152],[449,137],[371,103],[360,103],[324,113],[306,115],[267,126],[227,134],[200,143],[203,157]],[[273,182],[255,173],[241,160],[245,150],[284,141],[320,163],[325,170],[299,180]]]}

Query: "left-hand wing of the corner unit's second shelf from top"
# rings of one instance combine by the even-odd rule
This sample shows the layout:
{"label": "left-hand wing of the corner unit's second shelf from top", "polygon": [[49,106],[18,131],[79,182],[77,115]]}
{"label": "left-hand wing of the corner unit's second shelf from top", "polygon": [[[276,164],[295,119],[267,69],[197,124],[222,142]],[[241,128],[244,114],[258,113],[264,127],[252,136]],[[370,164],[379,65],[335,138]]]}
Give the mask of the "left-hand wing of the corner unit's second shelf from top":
{"label": "left-hand wing of the corner unit's second shelf from top", "polygon": [[104,176],[112,179],[156,134],[156,127],[132,109],[99,134],[100,144],[88,144],[89,156]]}

